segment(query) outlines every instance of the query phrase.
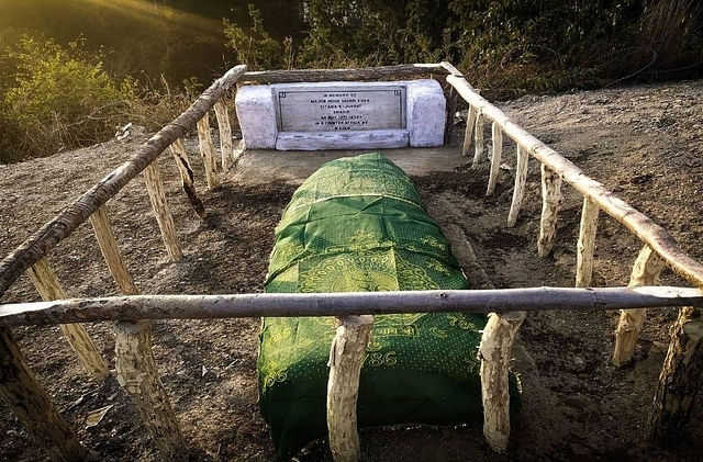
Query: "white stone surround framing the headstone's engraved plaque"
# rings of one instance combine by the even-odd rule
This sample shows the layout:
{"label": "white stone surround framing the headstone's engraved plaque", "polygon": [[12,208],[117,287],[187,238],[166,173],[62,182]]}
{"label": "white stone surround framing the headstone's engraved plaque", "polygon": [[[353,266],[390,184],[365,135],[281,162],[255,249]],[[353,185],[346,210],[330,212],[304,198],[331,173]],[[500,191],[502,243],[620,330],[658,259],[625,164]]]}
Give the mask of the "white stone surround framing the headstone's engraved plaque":
{"label": "white stone surround framing the headstone's engraved plaque", "polygon": [[[280,114],[277,114],[275,92],[309,90],[313,93],[328,91],[372,90],[384,86],[404,88],[405,100],[402,128],[395,129],[354,129],[354,131],[279,131]],[[336,90],[336,89],[339,90]],[[365,103],[364,111],[373,111],[373,102]],[[236,113],[242,136],[248,149],[279,150],[328,150],[328,149],[375,149],[398,147],[435,147],[444,144],[446,123],[446,100],[442,87],[436,80],[411,80],[394,82],[324,82],[288,83],[276,86],[244,86],[235,98]],[[341,108],[342,109],[342,108]],[[381,108],[379,108],[379,111]],[[314,111],[311,117],[322,117]],[[359,113],[360,114],[360,113]],[[398,114],[398,112],[397,112]],[[402,112],[400,113],[402,117]],[[368,117],[370,123],[373,117]],[[378,120],[378,117],[377,117]],[[323,127],[321,127],[323,128]],[[369,126],[369,128],[373,128]]]}

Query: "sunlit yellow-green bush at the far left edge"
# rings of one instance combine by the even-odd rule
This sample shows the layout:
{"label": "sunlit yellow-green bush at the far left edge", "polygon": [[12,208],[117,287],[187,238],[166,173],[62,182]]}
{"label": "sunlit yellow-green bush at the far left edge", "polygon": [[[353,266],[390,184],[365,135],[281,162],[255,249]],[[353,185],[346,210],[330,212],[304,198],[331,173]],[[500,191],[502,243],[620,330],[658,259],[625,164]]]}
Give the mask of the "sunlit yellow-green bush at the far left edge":
{"label": "sunlit yellow-green bush at the far left edge", "polygon": [[[5,160],[46,156],[63,148],[97,143],[114,133],[134,82],[115,83],[100,56],[81,50],[82,41],[65,49],[52,40],[27,35],[7,50],[18,69],[3,88],[0,115]],[[12,155],[10,154],[12,153]]]}

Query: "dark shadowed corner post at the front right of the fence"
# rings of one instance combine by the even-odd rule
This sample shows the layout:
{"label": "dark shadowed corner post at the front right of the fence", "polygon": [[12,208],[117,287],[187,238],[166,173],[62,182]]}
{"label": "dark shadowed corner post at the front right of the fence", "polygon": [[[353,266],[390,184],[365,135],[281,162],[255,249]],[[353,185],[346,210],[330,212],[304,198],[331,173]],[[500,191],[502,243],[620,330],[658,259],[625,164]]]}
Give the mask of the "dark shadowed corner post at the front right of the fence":
{"label": "dark shadowed corner post at the front right of the fence", "polygon": [[701,311],[683,307],[671,328],[648,421],[648,438],[673,446],[687,435],[695,396],[703,384],[703,319]]}

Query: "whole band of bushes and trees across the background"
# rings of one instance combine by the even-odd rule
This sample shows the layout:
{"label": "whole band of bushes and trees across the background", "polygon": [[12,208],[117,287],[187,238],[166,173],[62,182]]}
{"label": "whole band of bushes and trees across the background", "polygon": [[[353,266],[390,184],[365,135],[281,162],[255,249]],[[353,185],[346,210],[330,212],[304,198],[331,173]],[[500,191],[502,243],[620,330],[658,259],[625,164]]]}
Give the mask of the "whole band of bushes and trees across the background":
{"label": "whole band of bushes and trees across the background", "polygon": [[[3,162],[103,140],[127,121],[149,128],[169,122],[199,92],[197,79],[183,80],[182,88],[172,83],[196,74],[183,61],[186,56],[198,54],[199,77],[220,74],[214,69],[222,56],[222,43],[213,43],[221,41],[216,23],[213,29],[212,20],[199,22],[190,11],[212,8],[213,12],[225,3],[234,14],[241,11],[224,1],[196,5],[190,0],[167,0],[140,3],[149,14],[121,22],[116,16],[105,19],[102,10],[81,9],[78,0],[60,7],[54,3],[26,0],[11,8],[0,2],[0,49],[7,49],[0,55]],[[226,48],[253,70],[446,59],[493,98],[703,72],[699,0],[271,0],[257,4],[260,10],[248,5],[245,21],[223,20]],[[42,16],[37,13],[42,9],[51,13]],[[15,21],[20,16],[26,21]],[[274,24],[270,32],[264,26],[265,18]],[[59,42],[31,35],[32,30],[47,29],[48,19],[83,22],[81,30],[104,32],[102,40],[115,49],[103,53],[99,42],[89,44],[90,48],[82,38],[68,42],[66,33],[72,34],[74,27],[63,30]],[[304,27],[298,27],[301,21]],[[300,33],[286,36],[292,24]],[[304,40],[299,41],[301,36]],[[125,78],[136,71],[138,82]]]}

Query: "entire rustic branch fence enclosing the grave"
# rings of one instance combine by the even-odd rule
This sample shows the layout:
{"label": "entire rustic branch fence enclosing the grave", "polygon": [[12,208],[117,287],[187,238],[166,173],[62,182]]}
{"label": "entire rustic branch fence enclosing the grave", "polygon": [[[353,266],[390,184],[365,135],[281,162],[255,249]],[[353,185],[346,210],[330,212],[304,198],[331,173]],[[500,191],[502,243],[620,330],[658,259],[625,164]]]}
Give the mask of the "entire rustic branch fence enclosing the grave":
{"label": "entire rustic branch fence enclosing the grave", "polygon": [[[339,294],[243,294],[243,295],[137,295],[107,214],[104,204],[127,182],[143,173],[154,213],[167,252],[181,258],[175,223],[155,160],[170,147],[180,171],[183,190],[196,212],[204,216],[203,203],[193,183],[190,161],[180,138],[197,129],[209,188],[219,184],[215,149],[210,138],[209,112],[214,110],[221,134],[221,170],[233,165],[235,153],[228,114],[222,98],[232,87],[248,82],[292,82],[327,80],[394,80],[432,77],[444,86],[447,95],[447,133],[451,137],[457,99],[469,104],[464,155],[475,142],[473,162],[482,161],[483,124],[492,123],[492,158],[488,194],[492,194],[501,162],[503,135],[517,149],[517,169],[507,224],[514,225],[520,213],[529,158],[542,165],[543,212],[538,253],[551,249],[558,219],[562,183],[583,195],[581,229],[577,243],[576,288],[536,288],[490,291],[431,291],[397,293]],[[628,288],[592,289],[594,240],[600,211],[613,216],[629,229],[644,247],[633,268]],[[66,295],[47,261],[48,252],[78,226],[90,221],[108,268],[124,296],[65,300]],[[671,268],[694,288],[656,286],[659,272]],[[696,363],[703,363],[699,312],[703,306],[703,266],[688,257],[673,238],[646,215],[633,209],[601,183],[559,156],[498,108],[481,98],[462,75],[448,63],[405,65],[367,69],[324,69],[246,72],[237,66],[217,79],[174,122],[147,140],[122,166],[99,181],[81,198],[46,223],[0,263],[0,296],[27,272],[45,302],[0,305],[0,395],[25,425],[38,446],[54,461],[83,460],[85,448],[62,418],[47,393],[37,383],[12,338],[10,326],[60,324],[62,330],[78,353],[86,370],[96,379],[109,375],[105,361],[78,323],[118,320],[115,357],[118,380],[133,397],[144,424],[165,460],[187,460],[188,451],[174,410],[161,385],[154,361],[149,319],[235,318],[258,316],[337,316],[341,327],[333,345],[347,347],[344,353],[333,348],[328,386],[330,443],[336,460],[357,460],[358,437],[355,428],[356,387],[360,358],[373,314],[419,312],[493,313],[480,346],[484,405],[484,435],[496,451],[504,451],[510,435],[507,415],[507,368],[513,339],[527,311],[540,309],[622,309],[616,333],[613,362],[627,362],[644,318],[644,309],[681,306],[672,329],[665,370],[655,396],[649,421],[651,438],[667,438],[690,417],[692,401],[687,399],[700,386]],[[352,348],[355,347],[355,348]],[[353,378],[348,380],[347,378]],[[693,388],[692,388],[693,384]],[[353,418],[344,418],[352,416]],[[346,435],[347,437],[342,437]],[[350,437],[349,437],[350,436]]]}

